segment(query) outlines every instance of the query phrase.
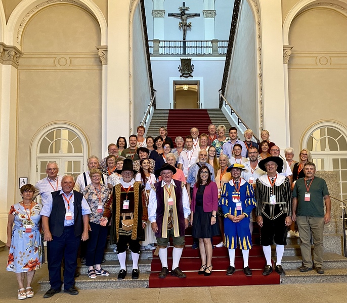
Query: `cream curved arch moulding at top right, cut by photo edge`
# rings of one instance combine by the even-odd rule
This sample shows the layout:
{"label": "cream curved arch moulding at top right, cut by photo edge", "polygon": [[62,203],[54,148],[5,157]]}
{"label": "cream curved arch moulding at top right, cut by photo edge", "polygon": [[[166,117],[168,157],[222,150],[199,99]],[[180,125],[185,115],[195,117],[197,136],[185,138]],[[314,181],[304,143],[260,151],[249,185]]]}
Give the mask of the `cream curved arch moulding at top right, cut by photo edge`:
{"label": "cream curved arch moulding at top right, cut by photo edge", "polygon": [[317,0],[300,0],[297,4],[295,4],[291,10],[289,11],[289,13],[287,14],[284,22],[283,22],[283,45],[289,45],[289,29],[290,29],[290,25],[293,21],[293,19],[295,18],[295,16],[301,12],[303,9],[305,9],[306,7],[308,7],[309,5],[312,5],[314,3],[319,3],[322,6],[326,6],[327,3],[331,4],[331,8],[335,9],[334,5],[339,5],[345,9],[347,9],[347,0],[339,0],[339,1],[334,1],[334,0],[328,0],[327,2],[320,2]]}

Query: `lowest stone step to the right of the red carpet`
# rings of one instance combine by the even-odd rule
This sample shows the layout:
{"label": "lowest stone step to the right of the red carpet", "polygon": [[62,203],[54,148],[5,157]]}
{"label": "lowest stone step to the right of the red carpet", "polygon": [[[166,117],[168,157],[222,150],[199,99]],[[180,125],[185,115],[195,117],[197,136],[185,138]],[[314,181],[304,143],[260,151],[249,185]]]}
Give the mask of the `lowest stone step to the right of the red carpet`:
{"label": "lowest stone step to the right of the red carpet", "polygon": [[301,273],[298,269],[285,271],[286,275],[280,278],[283,284],[347,282],[345,268],[324,268],[324,274],[317,274],[314,269],[307,273]]}

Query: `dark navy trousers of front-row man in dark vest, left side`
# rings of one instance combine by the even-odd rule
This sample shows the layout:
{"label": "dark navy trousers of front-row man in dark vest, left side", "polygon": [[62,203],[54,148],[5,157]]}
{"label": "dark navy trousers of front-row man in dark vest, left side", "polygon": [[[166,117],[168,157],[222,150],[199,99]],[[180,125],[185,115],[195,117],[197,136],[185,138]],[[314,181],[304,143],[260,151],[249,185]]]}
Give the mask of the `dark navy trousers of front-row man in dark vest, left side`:
{"label": "dark navy trousers of front-row man in dark vest, left side", "polygon": [[75,236],[72,225],[64,227],[64,232],[60,237],[52,237],[53,240],[47,242],[50,251],[48,269],[51,288],[61,288],[61,264],[64,257],[64,289],[69,289],[75,284],[74,275],[77,267],[77,251],[81,235]]}

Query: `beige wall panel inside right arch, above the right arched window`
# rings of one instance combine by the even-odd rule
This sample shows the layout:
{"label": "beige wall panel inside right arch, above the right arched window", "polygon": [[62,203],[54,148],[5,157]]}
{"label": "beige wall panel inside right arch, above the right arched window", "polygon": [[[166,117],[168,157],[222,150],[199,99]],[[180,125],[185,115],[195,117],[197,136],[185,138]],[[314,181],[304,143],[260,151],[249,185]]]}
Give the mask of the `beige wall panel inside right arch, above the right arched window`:
{"label": "beige wall panel inside right arch, above the right arched window", "polygon": [[290,141],[298,155],[303,131],[321,119],[347,124],[347,18],[328,8],[305,11],[289,31]]}

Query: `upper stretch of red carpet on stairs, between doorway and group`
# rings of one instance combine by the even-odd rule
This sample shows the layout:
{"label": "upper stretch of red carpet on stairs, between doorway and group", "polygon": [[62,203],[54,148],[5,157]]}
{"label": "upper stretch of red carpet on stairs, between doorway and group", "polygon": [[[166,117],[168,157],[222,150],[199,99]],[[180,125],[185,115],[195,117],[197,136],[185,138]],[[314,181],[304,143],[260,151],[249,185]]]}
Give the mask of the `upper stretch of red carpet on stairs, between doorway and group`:
{"label": "upper stretch of red carpet on stairs, between doorway and group", "polygon": [[185,136],[190,135],[190,129],[192,127],[199,129],[199,135],[208,133],[208,125],[211,123],[207,110],[169,110],[167,135],[175,144],[175,138],[181,136],[184,139]]}

